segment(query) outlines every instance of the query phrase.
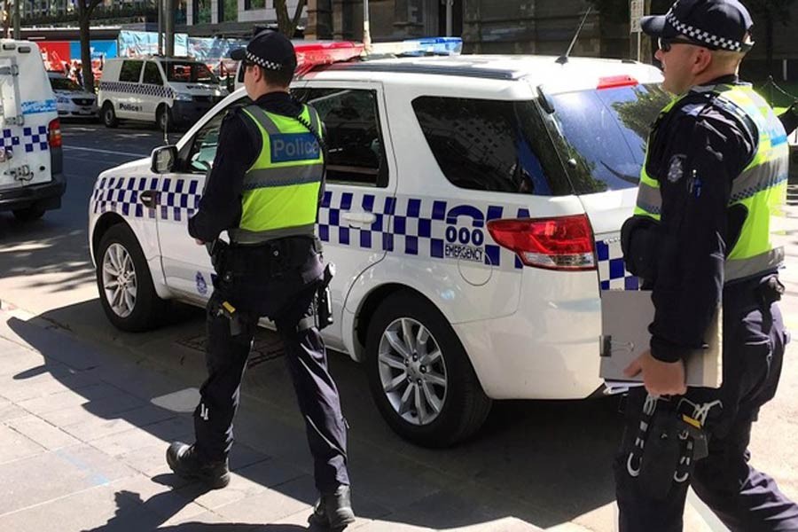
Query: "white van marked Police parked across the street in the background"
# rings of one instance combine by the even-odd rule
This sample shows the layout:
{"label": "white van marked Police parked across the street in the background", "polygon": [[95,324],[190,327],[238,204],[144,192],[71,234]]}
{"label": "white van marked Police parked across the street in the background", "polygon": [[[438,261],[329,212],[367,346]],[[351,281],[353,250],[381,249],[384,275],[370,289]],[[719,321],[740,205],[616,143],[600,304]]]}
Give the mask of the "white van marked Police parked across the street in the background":
{"label": "white van marked Police parked across the street in the background", "polygon": [[194,59],[115,58],[103,66],[98,106],[108,128],[122,119],[170,129],[198,121],[226,95],[215,74]]}

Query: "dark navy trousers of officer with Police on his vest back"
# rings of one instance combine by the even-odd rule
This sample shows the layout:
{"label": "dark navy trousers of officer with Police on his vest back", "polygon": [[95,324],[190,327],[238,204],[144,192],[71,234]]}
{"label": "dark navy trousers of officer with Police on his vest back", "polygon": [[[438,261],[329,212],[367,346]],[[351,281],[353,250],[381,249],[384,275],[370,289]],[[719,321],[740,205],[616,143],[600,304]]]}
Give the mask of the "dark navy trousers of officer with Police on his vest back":
{"label": "dark navy trousers of officer with Police on his vest back", "polygon": [[[291,256],[277,268],[270,248],[236,250],[243,266],[232,268],[227,280],[221,275],[217,278],[207,304],[208,377],[200,387],[201,401],[194,411],[195,445],[200,456],[208,460],[222,460],[230,453],[233,418],[257,321],[270,317],[283,340],[286,364],[305,420],[317,489],[329,493],[349,483],[346,420],[321,334],[315,326],[298,327],[303,318],[313,315],[318,279],[312,278],[321,272],[317,254],[308,249],[303,260],[304,245],[300,247],[299,259],[296,255],[300,252],[290,249],[286,253]],[[230,302],[239,314],[238,334],[231,332],[230,319],[219,312],[223,301]]]}

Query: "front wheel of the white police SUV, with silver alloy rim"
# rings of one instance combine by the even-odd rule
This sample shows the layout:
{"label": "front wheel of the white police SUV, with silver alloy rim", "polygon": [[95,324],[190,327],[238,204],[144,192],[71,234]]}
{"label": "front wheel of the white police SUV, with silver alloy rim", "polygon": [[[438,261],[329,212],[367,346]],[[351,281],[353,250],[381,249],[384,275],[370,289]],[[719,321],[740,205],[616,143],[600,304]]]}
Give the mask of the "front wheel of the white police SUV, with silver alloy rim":
{"label": "front wheel of the white police SUV, with silver alloy rim", "polygon": [[108,320],[118,329],[154,329],[166,316],[168,301],[155,293],[153,278],[136,235],[124,223],[100,239],[97,262],[99,298]]}

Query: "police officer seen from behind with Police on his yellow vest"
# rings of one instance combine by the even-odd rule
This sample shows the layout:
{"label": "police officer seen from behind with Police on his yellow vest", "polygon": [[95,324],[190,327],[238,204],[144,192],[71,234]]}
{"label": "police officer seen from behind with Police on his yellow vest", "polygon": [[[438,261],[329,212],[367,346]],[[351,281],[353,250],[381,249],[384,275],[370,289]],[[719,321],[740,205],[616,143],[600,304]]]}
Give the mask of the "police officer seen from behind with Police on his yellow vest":
{"label": "police officer seen from behind with Police on his yellow vest", "polygon": [[[196,442],[167,452],[178,475],[223,488],[239,387],[260,317],[283,340],[314,459],[320,497],[311,520],[344,528],[349,501],[346,421],[318,331],[328,323],[324,299],[331,272],[315,235],[324,192],[323,124],[288,93],[296,67],[291,42],[256,35],[231,53],[252,103],[231,110],[189,233],[210,248],[216,277],[207,304],[207,380],[194,411]],[[228,231],[230,246],[219,240]],[[269,434],[264,434],[269,437]]]}

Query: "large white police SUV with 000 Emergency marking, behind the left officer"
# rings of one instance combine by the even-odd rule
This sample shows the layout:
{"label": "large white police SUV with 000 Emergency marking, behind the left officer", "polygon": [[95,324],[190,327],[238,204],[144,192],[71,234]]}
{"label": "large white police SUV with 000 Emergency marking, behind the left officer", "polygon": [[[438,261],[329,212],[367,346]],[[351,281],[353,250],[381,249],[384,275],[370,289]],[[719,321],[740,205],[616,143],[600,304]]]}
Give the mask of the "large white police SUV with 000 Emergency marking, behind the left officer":
{"label": "large white police SUV with 000 Emergency marking, behind the left officer", "polygon": [[[294,82],[327,131],[325,340],[364,363],[397,433],[448,445],[491,400],[601,393],[600,291],[638,287],[619,233],[660,82],[636,62],[533,56],[347,62]],[[186,221],[224,114],[247,101],[237,90],[176,146],[98,176],[91,249],[117,327],[207,301]]]}

